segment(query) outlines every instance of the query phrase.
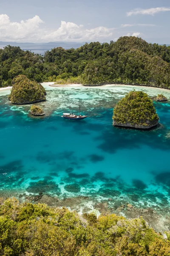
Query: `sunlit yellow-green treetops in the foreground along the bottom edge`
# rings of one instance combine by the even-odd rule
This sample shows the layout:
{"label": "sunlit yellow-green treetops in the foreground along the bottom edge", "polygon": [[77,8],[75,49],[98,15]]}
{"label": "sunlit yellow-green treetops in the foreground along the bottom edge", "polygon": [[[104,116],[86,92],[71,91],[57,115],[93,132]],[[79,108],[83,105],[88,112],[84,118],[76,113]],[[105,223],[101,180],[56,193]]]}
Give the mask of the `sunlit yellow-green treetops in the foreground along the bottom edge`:
{"label": "sunlit yellow-green treetops in the foreground along the bottom edge", "polygon": [[170,256],[170,233],[164,236],[142,218],[0,200],[1,256]]}

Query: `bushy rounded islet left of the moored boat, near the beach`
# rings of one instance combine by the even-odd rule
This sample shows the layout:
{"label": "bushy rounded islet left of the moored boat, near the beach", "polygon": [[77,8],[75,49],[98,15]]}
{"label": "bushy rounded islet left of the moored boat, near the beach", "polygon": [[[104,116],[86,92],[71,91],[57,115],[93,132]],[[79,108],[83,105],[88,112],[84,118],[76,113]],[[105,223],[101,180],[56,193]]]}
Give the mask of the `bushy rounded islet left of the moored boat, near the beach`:
{"label": "bushy rounded islet left of the moored boat, near the beach", "polygon": [[45,101],[46,91],[41,84],[29,80],[24,75],[13,79],[13,86],[8,99],[13,104],[29,104]]}

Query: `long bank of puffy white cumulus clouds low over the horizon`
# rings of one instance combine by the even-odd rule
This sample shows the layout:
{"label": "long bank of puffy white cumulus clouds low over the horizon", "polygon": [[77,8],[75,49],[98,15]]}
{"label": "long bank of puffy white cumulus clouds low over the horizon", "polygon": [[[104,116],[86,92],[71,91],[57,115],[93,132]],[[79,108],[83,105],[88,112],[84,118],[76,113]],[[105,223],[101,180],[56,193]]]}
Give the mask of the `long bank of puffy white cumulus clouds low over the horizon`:
{"label": "long bank of puffy white cumulus clouds low over the horizon", "polygon": [[28,20],[11,22],[6,14],[0,15],[1,41],[91,41],[112,37],[113,28],[99,26],[85,29],[83,25],[73,22],[61,22],[57,29],[46,29],[41,26],[43,21],[39,16]]}

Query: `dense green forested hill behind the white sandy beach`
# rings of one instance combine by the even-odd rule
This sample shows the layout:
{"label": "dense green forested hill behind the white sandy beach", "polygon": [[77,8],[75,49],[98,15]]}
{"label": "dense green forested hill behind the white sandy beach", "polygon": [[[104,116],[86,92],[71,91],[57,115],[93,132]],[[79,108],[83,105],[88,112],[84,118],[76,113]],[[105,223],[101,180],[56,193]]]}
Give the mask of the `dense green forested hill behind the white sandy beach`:
{"label": "dense green forested hill behind the white sandy beach", "polygon": [[19,74],[37,82],[125,83],[170,89],[170,46],[125,36],[110,44],[57,47],[43,57],[20,47],[0,49],[0,86],[11,85]]}

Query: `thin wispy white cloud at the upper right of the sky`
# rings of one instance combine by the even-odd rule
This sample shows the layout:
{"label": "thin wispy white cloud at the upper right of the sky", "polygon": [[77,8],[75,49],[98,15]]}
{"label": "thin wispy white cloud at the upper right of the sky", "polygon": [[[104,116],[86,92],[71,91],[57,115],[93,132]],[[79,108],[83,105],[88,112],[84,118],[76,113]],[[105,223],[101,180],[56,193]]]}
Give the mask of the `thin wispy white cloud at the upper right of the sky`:
{"label": "thin wispy white cloud at the upper right of the sky", "polygon": [[159,12],[167,12],[167,11],[170,11],[170,7],[157,7],[157,8],[150,8],[150,9],[134,9],[130,12],[127,12],[127,16],[138,15],[138,14],[154,15]]}

